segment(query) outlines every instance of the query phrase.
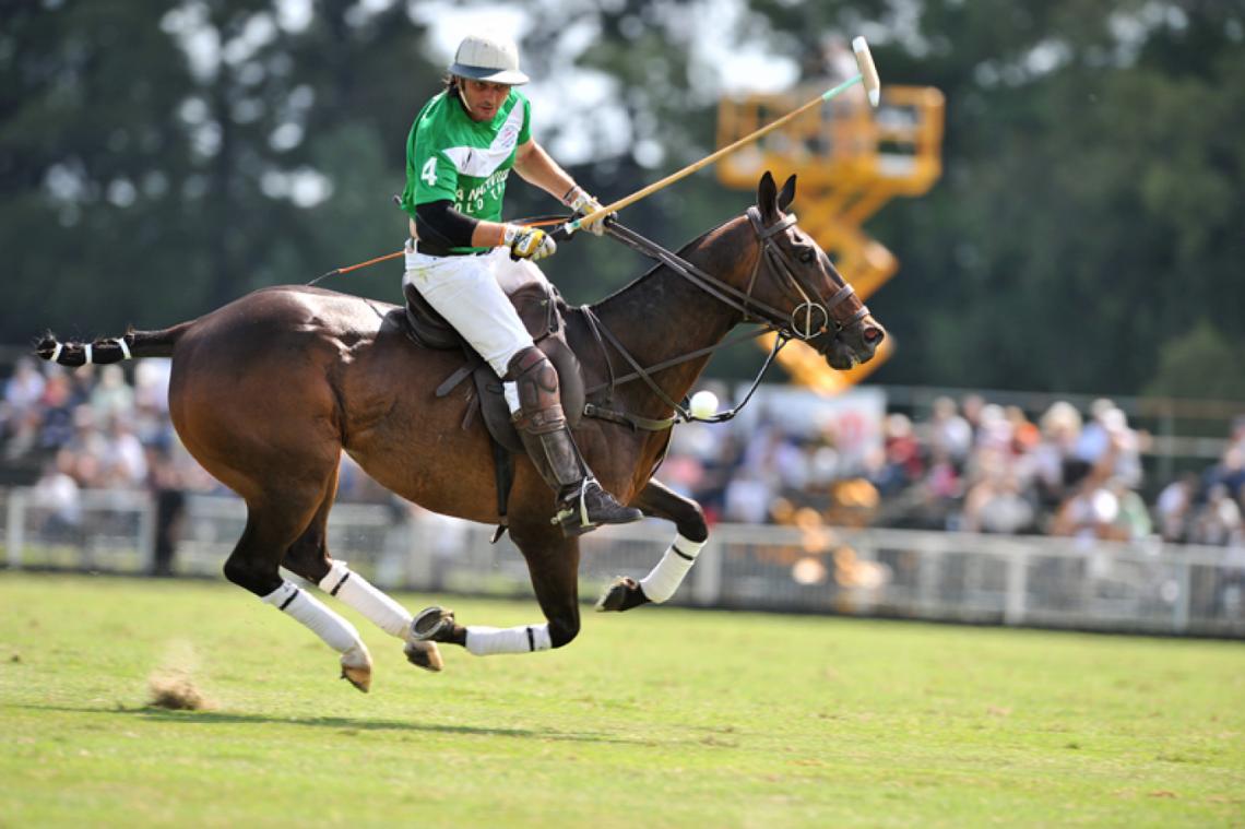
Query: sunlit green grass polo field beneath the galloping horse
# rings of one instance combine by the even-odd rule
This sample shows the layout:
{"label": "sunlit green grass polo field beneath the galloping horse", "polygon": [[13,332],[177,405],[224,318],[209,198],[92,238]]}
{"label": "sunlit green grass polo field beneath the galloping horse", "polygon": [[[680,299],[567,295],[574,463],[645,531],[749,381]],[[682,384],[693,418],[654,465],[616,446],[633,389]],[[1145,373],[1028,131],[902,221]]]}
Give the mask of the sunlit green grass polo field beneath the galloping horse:
{"label": "sunlit green grass polo field beneath the galloping horse", "polygon": [[[0,609],[2,827],[1245,824],[1236,642],[645,607],[430,675],[344,611],[365,696],[225,584],[2,574]],[[213,707],[148,707],[173,670]]]}

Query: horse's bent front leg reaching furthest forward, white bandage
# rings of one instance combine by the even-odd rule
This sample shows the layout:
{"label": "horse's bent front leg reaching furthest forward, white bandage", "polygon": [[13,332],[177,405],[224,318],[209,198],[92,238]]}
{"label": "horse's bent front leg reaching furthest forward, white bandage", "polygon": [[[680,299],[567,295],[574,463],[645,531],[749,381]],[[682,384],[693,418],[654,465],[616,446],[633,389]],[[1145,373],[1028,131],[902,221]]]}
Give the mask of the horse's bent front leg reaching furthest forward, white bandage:
{"label": "horse's bent front leg reaching furthest forward, white bandage", "polygon": [[596,610],[631,610],[649,602],[661,604],[675,595],[687,571],[696,563],[705,541],[708,525],[705,512],[695,500],[684,498],[660,480],[650,480],[635,499],[645,515],[665,518],[675,523],[679,534],[666,548],[657,565],[640,581],[619,576],[596,602]]}

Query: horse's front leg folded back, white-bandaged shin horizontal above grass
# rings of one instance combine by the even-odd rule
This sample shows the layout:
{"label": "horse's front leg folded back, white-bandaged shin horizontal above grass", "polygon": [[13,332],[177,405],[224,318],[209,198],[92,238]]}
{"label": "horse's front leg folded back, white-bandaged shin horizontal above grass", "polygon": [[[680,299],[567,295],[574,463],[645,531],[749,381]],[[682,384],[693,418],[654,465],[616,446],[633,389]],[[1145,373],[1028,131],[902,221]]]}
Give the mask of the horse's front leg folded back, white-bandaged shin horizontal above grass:
{"label": "horse's front leg folded back, white-bandaged shin horizontal above grass", "polygon": [[579,539],[550,527],[512,525],[510,536],[528,561],[544,624],[517,627],[459,625],[452,610],[427,607],[415,617],[416,637],[459,645],[476,656],[532,653],[569,645],[579,634]]}

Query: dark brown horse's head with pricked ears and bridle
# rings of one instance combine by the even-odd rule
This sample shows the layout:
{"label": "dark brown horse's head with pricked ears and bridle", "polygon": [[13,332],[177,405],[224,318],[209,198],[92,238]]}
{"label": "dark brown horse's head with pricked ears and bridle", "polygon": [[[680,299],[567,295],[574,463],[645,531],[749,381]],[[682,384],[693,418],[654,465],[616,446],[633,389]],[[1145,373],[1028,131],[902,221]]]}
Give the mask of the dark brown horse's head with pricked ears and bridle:
{"label": "dark brown horse's head with pricked ears and bridle", "polygon": [[[787,315],[779,330],[803,340],[843,371],[873,358],[886,336],[869,309],[839,275],[820,245],[786,213],[796,198],[796,177],[779,190],[768,172],[757,185],[757,207],[748,209],[761,250],[749,285],[749,297]],[[766,279],[762,279],[766,276]],[[788,310],[789,309],[789,310]]]}

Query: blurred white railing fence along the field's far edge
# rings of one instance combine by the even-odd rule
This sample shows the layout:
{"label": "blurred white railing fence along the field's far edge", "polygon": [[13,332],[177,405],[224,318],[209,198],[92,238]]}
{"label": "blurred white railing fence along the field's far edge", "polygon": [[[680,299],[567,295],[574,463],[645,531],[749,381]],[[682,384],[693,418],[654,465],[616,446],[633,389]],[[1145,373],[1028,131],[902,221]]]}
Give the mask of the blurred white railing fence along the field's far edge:
{"label": "blurred white railing fence along the field's far edge", "polygon": [[[0,493],[10,569],[151,570],[154,500],[85,492],[77,514]],[[190,495],[174,573],[219,576],[240,536],[235,498]],[[339,504],[329,549],[388,589],[529,596],[527,565],[491,527],[406,505]],[[581,543],[581,591],[644,576],[674,535],[645,522]],[[718,525],[672,604],[974,624],[1245,636],[1245,549],[885,529]]]}

